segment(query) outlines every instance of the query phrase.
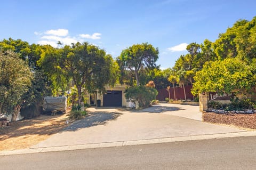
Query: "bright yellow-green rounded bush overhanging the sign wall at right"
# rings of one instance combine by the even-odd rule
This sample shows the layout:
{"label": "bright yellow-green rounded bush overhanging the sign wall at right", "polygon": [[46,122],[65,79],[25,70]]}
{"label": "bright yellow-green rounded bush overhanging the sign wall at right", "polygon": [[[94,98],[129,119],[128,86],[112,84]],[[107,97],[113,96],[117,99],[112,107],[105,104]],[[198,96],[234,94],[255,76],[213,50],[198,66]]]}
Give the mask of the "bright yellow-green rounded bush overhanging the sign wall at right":
{"label": "bright yellow-green rounded bush overhanging the sign wall at right", "polygon": [[255,67],[238,58],[207,62],[194,77],[196,82],[192,93],[250,91],[255,88],[254,72]]}

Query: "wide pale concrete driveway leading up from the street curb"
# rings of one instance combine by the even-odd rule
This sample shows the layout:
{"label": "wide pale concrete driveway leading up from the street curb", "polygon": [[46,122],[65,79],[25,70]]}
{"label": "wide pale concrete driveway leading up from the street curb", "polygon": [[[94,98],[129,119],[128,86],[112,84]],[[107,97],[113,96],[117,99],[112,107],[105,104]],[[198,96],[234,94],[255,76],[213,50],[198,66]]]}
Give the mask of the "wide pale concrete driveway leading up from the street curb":
{"label": "wide pale concrete driveway leading up from the street curb", "polygon": [[90,116],[31,148],[245,132],[201,122],[198,106],[159,104],[144,110],[89,108]]}

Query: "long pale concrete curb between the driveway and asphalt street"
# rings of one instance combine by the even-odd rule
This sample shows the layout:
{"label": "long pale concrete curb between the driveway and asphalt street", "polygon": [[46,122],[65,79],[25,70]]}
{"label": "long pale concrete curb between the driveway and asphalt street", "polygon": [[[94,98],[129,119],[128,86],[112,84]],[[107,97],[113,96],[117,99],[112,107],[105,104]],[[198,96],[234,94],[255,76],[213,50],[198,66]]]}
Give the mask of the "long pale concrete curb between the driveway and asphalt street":
{"label": "long pale concrete curb between the driveway and asphalt street", "polygon": [[78,150],[78,149],[122,147],[122,146],[139,145],[139,144],[154,144],[154,143],[219,139],[219,138],[225,138],[225,137],[246,137],[246,136],[256,136],[256,131],[208,134],[208,135],[195,135],[195,136],[181,136],[181,137],[165,137],[165,138],[158,138],[158,139],[145,139],[145,140],[135,140],[135,141],[91,143],[91,144],[68,145],[68,146],[60,146],[60,147],[47,147],[47,148],[21,149],[21,150],[12,150],[12,151],[0,151],[0,156],[20,155],[20,154],[28,154],[28,153],[69,151],[69,150]]}

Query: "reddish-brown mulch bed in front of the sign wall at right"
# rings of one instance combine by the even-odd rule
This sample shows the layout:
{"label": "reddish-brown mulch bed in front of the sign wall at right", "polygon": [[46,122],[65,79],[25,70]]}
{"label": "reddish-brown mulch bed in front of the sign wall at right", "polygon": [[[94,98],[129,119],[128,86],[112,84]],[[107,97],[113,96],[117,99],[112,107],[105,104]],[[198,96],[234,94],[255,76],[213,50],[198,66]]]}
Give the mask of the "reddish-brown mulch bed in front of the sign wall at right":
{"label": "reddish-brown mulch bed in front of the sign wall at right", "polygon": [[204,112],[203,121],[256,129],[256,114],[216,114],[214,112]]}

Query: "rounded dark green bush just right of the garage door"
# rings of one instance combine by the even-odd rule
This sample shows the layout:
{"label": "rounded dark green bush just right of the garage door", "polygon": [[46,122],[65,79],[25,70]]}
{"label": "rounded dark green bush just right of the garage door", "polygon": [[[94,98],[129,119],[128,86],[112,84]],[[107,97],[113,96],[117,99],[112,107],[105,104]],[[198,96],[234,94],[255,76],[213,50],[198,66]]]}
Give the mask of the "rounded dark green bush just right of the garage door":
{"label": "rounded dark green bush just right of the garage door", "polygon": [[157,93],[157,90],[152,87],[134,86],[127,89],[125,98],[137,101],[139,107],[148,107],[150,102],[156,99]]}

